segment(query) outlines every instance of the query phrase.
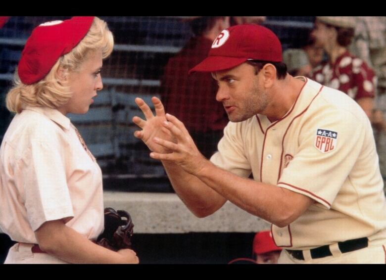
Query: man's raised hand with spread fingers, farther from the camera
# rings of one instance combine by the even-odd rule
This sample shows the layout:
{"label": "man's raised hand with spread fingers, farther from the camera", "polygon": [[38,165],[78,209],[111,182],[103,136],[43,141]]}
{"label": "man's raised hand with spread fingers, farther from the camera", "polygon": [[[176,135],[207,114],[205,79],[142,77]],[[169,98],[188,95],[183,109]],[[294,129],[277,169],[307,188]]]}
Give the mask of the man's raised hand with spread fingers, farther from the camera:
{"label": "man's raised hand with spread fingers, farther from the camera", "polygon": [[146,120],[143,120],[138,116],[133,118],[133,122],[142,128],[141,131],[136,131],[134,136],[143,140],[151,151],[158,153],[170,153],[170,150],[153,141],[155,137],[158,137],[160,139],[177,142],[175,138],[173,138],[171,132],[162,125],[162,123],[166,121],[166,117],[165,109],[161,100],[157,97],[151,98],[155,107],[155,116],[143,99],[137,97],[135,101],[144,113]]}

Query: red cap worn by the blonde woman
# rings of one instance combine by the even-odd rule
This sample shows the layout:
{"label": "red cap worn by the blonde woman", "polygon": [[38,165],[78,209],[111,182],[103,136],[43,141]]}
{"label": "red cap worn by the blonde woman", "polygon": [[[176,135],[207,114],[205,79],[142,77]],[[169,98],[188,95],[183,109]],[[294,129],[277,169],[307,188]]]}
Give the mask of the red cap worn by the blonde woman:
{"label": "red cap worn by the blonde woman", "polygon": [[59,57],[70,52],[86,36],[93,20],[93,16],[74,16],[36,27],[21,53],[17,70],[21,82],[31,85],[46,77]]}

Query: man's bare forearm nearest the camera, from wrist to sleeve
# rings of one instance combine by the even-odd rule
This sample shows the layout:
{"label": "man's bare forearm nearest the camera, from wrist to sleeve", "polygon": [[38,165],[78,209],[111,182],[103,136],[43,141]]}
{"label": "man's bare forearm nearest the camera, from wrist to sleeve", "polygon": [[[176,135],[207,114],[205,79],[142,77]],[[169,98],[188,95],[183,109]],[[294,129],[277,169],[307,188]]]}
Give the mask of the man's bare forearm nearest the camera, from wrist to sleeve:
{"label": "man's bare forearm nearest the camera, from wrist to sleeve", "polygon": [[294,221],[314,202],[282,187],[241,178],[209,161],[196,176],[241,209],[280,227]]}

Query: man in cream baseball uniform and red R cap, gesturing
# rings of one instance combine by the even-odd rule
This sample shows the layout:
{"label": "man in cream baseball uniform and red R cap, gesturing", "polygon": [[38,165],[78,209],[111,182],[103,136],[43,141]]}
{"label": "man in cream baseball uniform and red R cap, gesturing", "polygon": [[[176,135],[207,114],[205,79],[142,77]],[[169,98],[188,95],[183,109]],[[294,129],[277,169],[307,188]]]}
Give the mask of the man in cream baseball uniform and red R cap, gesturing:
{"label": "man in cream baseball uniform and red R cap, gesturing", "polygon": [[281,61],[276,35],[245,24],[223,30],[191,69],[212,73],[230,120],[210,161],[156,97],[155,116],[136,99],[145,120],[133,118],[135,136],[197,217],[229,200],[271,222],[279,263],[385,263],[386,201],[368,117]]}

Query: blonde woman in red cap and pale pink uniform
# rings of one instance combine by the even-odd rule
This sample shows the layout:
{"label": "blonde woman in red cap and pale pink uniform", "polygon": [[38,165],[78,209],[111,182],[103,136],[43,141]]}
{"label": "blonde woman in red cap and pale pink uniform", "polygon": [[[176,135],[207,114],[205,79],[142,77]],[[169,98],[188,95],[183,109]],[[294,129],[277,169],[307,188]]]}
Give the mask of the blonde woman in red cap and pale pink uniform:
{"label": "blonde woman in red cap and pale pink uniform", "polygon": [[17,241],[5,263],[139,262],[93,242],[103,230],[102,174],[66,117],[89,110],[113,45],[97,17],[41,24],[26,42],[0,147],[0,226]]}

